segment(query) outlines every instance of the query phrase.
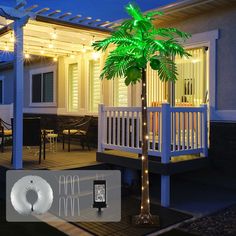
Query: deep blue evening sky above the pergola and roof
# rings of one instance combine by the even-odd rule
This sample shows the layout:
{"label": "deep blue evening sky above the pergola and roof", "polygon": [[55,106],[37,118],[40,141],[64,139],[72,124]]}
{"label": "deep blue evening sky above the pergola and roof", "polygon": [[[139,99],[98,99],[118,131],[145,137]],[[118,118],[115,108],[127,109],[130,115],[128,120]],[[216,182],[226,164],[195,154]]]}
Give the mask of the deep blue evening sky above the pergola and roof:
{"label": "deep blue evening sky above the pergola and roof", "polygon": [[[0,4],[14,6],[15,0],[0,0]],[[174,0],[28,0],[28,5],[37,4],[39,7],[49,7],[52,10],[62,10],[73,14],[91,16],[94,19],[115,21],[126,18],[124,6],[129,2],[136,2],[142,11],[167,5]],[[37,10],[37,9],[36,9]]]}

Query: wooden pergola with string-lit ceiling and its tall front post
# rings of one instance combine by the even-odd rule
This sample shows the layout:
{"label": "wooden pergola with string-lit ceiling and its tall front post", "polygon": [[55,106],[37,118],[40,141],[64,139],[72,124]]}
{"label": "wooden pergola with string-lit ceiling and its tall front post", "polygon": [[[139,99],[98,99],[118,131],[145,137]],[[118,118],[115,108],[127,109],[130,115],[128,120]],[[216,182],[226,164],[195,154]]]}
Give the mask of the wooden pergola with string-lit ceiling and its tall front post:
{"label": "wooden pergola with string-lit ceiling and its tall front post", "polygon": [[91,43],[110,34],[115,24],[70,12],[27,6],[17,0],[14,8],[0,5],[0,50],[14,52],[13,168],[22,169],[23,72],[30,55],[74,57],[93,52]]}

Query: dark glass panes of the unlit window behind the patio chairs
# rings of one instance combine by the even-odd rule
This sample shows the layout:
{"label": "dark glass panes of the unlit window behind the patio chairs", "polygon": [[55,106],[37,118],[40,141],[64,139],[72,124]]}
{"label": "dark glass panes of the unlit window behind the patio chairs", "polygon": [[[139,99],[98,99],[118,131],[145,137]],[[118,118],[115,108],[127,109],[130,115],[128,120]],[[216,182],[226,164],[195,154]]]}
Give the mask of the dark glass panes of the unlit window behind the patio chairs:
{"label": "dark glass panes of the unlit window behind the patio chairs", "polygon": [[32,78],[32,103],[54,102],[53,72],[35,73]]}

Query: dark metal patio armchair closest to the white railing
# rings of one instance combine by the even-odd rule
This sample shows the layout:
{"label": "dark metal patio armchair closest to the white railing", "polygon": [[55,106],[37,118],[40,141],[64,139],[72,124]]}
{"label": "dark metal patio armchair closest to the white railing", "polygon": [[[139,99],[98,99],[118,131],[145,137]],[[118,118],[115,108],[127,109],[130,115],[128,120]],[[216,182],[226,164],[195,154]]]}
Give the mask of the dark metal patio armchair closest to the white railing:
{"label": "dark metal patio armchair closest to the white railing", "polygon": [[65,149],[65,141],[68,141],[68,152],[70,152],[71,139],[80,141],[82,148],[84,149],[85,143],[90,150],[90,140],[89,140],[89,128],[91,125],[92,116],[85,116],[79,123],[75,124],[73,127],[64,129],[62,132],[62,142],[63,150]]}

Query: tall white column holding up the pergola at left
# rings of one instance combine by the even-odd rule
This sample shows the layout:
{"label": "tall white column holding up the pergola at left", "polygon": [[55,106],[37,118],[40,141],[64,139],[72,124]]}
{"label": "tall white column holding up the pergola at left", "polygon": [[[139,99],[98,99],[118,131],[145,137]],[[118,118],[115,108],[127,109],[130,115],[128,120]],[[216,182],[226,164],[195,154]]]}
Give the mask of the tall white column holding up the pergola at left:
{"label": "tall white column holding up the pergola at left", "polygon": [[14,106],[13,106],[13,168],[22,169],[23,154],[23,81],[24,53],[23,26],[28,17],[16,19],[14,22]]}

